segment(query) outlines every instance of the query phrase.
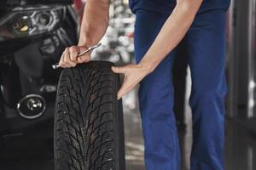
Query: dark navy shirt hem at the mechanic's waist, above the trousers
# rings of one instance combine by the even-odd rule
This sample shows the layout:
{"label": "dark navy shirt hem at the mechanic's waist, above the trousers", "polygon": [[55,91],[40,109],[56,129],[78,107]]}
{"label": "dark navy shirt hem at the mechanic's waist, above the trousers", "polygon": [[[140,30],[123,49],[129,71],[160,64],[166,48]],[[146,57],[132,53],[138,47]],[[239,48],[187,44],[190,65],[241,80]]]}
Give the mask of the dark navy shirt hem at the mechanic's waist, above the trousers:
{"label": "dark navy shirt hem at the mechanic's waist, above the trousers", "polygon": [[[130,0],[131,11],[136,13],[137,9],[147,9],[154,12],[171,14],[176,5],[176,0]],[[226,10],[230,6],[230,0],[203,0],[200,13],[209,10]]]}

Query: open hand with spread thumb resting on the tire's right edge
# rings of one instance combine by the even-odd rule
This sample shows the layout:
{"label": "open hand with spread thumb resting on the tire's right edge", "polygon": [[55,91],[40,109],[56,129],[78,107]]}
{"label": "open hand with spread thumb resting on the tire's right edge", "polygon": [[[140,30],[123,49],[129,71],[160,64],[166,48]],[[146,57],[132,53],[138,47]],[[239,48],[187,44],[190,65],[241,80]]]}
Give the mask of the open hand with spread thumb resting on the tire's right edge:
{"label": "open hand with spread thumb resting on the tire's right edge", "polygon": [[131,64],[121,67],[112,66],[111,69],[113,72],[121,73],[125,76],[124,82],[118,92],[118,99],[127,94],[143,77],[146,77],[151,72],[151,69],[143,64]]}

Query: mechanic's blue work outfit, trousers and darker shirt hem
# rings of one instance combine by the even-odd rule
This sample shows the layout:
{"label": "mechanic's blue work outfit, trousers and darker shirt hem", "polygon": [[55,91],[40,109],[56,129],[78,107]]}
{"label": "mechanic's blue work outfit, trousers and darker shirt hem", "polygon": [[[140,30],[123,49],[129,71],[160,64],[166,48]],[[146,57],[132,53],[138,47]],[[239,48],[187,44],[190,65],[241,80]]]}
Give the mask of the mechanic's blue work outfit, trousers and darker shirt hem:
{"label": "mechanic's blue work outfit, trousers and darker shirt hem", "polygon": [[[154,42],[175,5],[175,0],[130,0],[131,10],[137,18],[137,63]],[[183,38],[189,52],[192,79],[189,97],[193,121],[191,170],[224,169],[225,17],[229,6],[230,0],[204,0]],[[172,64],[175,54],[176,49],[144,77],[139,86],[147,170],[180,169],[173,113]]]}

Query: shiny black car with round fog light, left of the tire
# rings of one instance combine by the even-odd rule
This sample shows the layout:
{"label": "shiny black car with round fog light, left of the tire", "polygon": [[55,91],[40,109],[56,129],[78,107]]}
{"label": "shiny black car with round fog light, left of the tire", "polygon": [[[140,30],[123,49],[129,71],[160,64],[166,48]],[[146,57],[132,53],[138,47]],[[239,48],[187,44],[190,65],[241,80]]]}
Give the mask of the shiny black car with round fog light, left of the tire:
{"label": "shiny black car with round fog light, left of the tire", "polygon": [[78,42],[82,8],[78,0],[0,2],[0,142],[26,133],[53,136],[61,70],[51,65]]}

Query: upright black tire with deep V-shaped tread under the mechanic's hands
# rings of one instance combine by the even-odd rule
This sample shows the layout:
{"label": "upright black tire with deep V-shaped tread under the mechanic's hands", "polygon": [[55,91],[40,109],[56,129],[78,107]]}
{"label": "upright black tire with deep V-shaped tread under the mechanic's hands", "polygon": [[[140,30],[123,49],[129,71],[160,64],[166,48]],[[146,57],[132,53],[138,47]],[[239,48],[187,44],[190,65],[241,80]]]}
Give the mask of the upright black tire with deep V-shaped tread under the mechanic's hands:
{"label": "upright black tire with deep V-shaped tread under the mechanic's hands", "polygon": [[123,108],[113,63],[64,69],[55,104],[55,170],[125,170]]}

